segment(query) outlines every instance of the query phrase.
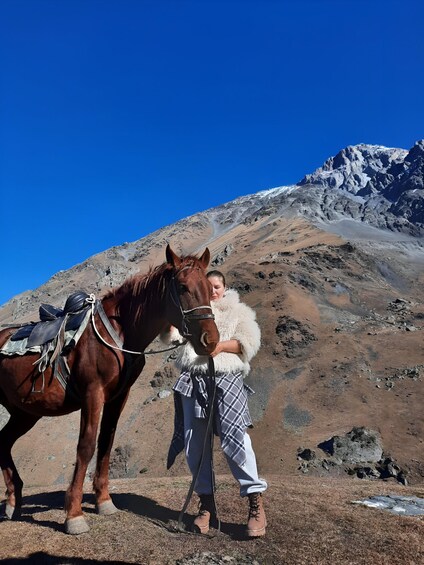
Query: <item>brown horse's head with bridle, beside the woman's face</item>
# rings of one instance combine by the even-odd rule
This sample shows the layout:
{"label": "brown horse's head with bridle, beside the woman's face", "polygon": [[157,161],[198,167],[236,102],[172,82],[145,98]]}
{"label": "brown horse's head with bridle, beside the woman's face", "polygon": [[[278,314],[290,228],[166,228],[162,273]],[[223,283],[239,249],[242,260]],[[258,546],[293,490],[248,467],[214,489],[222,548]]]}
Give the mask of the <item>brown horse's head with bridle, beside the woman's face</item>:
{"label": "brown horse's head with bridle, beside the woman's face", "polygon": [[208,248],[196,258],[178,257],[169,245],[166,247],[166,260],[172,266],[167,317],[198,355],[208,355],[219,341],[210,305],[211,285],[205,273],[209,259]]}

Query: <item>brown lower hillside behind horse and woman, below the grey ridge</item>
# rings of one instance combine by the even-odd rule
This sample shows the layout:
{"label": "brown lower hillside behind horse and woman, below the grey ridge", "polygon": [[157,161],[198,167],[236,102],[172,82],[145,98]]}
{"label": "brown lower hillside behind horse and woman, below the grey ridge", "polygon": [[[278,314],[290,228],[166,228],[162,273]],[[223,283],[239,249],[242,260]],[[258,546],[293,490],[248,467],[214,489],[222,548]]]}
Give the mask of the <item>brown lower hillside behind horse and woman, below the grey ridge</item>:
{"label": "brown lower hillside behind horse and woman, below the grey ridge", "polygon": [[[381,434],[409,480],[421,480],[422,263],[394,246],[365,252],[303,220],[262,219],[235,231],[209,246],[212,256],[232,246],[221,268],[262,329],[248,381],[256,390],[252,436],[263,474],[294,473],[300,446],[316,448],[334,434],[367,426]],[[417,367],[414,378],[403,376]],[[157,371],[159,387],[152,387]],[[120,420],[117,476],[165,474],[173,402],[157,394],[169,390],[174,377],[172,358],[148,358]],[[40,433],[48,441],[38,442],[34,453]],[[73,414],[46,418],[22,438],[15,456],[26,484],[66,483],[77,435]],[[172,473],[185,474],[185,463]]]}

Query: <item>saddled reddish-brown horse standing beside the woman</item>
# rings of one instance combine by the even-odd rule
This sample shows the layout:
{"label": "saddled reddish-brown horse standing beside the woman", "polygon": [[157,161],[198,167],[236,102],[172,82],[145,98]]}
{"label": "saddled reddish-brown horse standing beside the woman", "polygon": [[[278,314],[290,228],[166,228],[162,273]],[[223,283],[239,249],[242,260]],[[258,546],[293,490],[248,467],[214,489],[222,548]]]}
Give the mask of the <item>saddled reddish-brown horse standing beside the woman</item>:
{"label": "saddled reddish-brown horse standing beside the woman", "polygon": [[[93,310],[91,323],[76,346],[66,353],[78,398],[66,394],[51,368],[43,377],[34,369],[39,353],[0,354],[0,403],[10,413],[0,431],[0,465],[7,489],[5,517],[19,518],[21,511],[23,482],[11,455],[16,440],[42,416],[61,416],[79,409],[80,434],[75,470],[66,492],[65,530],[70,534],[88,531],[81,509],[82,489],[95,451],[101,414],[93,490],[100,514],[117,511],[109,494],[110,452],[130,387],[144,367],[145,348],[170,324],[179,328],[199,355],[211,353],[219,340],[210,308],[210,283],[205,275],[209,250],[205,249],[200,258],[179,257],[168,245],[166,259],[146,275],[127,279],[101,300],[106,323]],[[107,321],[113,327],[111,331],[107,331]],[[115,345],[113,330],[121,338],[122,348]],[[9,328],[0,332],[0,347],[15,331]],[[40,387],[34,391],[37,378],[43,378],[41,392]]]}

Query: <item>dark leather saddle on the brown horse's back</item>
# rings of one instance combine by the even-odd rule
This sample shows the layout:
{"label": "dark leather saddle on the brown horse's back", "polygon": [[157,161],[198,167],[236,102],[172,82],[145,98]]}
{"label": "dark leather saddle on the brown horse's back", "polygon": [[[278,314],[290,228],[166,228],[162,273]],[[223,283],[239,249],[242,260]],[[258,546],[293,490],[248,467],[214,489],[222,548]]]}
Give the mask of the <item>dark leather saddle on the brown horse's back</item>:
{"label": "dark leather saddle on the brown horse's back", "polygon": [[65,331],[77,330],[87,313],[90,304],[87,303],[89,295],[86,292],[71,294],[62,309],[51,304],[41,304],[39,308],[39,322],[30,322],[19,328],[11,341],[27,338],[27,347],[43,346],[54,340]]}

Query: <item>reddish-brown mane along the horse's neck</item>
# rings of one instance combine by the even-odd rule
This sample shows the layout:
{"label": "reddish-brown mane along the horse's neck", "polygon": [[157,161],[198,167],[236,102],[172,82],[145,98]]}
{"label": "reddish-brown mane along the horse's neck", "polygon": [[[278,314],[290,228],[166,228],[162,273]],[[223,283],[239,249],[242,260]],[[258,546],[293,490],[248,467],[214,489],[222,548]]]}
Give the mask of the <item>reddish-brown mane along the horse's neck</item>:
{"label": "reddish-brown mane along the horse's neck", "polygon": [[[178,270],[194,266],[198,259],[192,255],[181,257],[181,265]],[[128,277],[121,286],[110,290],[104,299],[115,298],[117,302],[117,314],[121,315],[124,308],[134,322],[137,322],[152,303],[161,302],[165,299],[167,285],[171,279],[174,268],[169,263],[162,263],[156,267],[149,267],[147,273],[138,273]]]}

